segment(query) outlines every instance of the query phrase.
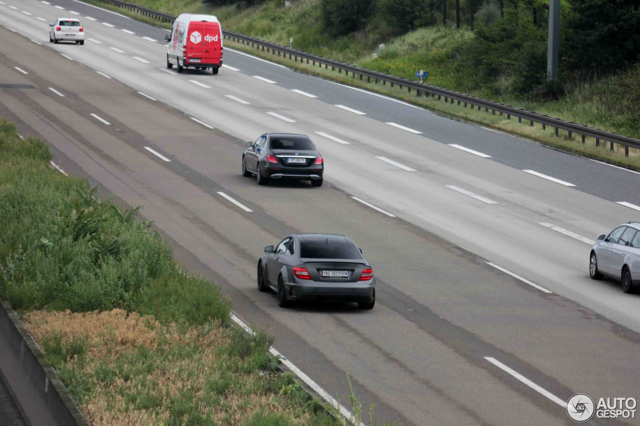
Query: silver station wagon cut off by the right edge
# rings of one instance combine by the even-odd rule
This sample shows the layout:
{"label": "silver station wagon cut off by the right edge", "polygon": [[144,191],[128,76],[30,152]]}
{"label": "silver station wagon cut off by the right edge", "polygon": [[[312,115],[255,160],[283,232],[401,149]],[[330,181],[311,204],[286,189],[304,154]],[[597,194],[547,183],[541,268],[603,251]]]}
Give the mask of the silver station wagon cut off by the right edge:
{"label": "silver station wagon cut off by the right edge", "polygon": [[589,255],[592,280],[609,276],[622,281],[622,290],[632,293],[640,285],[640,222],[628,222],[598,235]]}

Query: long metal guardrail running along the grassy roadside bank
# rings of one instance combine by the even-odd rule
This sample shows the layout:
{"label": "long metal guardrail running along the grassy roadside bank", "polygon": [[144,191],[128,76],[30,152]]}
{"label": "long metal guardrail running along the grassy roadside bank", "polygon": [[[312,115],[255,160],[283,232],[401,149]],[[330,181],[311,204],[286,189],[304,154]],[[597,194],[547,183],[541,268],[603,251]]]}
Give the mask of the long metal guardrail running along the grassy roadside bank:
{"label": "long metal guardrail running along the grassy roadside bank", "polygon": [[[176,18],[175,16],[168,13],[157,12],[156,10],[138,6],[137,4],[133,3],[127,3],[125,1],[100,1],[102,1],[102,3],[113,4],[121,8],[141,13],[141,15],[160,20],[161,22],[173,22],[173,20],[175,20]],[[411,93],[413,89],[415,94],[419,97],[422,95],[430,95],[431,97],[437,96],[438,100],[444,97],[445,102],[451,102],[451,104],[453,104],[454,102],[458,102],[458,105],[464,104],[465,107],[477,107],[478,110],[484,108],[484,111],[491,111],[494,115],[496,112],[500,115],[505,114],[508,119],[510,119],[511,116],[514,116],[518,118],[518,122],[522,122],[522,120],[525,120],[525,122],[528,121],[529,125],[531,126],[534,125],[534,123],[539,123],[542,125],[543,129],[546,129],[547,126],[553,127],[554,129],[556,129],[556,136],[558,136],[559,130],[566,130],[566,132],[568,132],[569,138],[571,138],[574,133],[579,134],[582,137],[581,139],[583,144],[585,143],[585,138],[594,138],[596,146],[600,146],[600,141],[608,141],[610,144],[609,149],[611,151],[614,150],[614,144],[622,145],[625,147],[626,157],[629,156],[629,148],[640,149],[640,140],[631,138],[630,136],[622,136],[617,133],[607,132],[605,130],[595,129],[586,125],[564,121],[559,118],[553,118],[545,114],[538,114],[534,111],[527,111],[525,109],[500,104],[491,100],[477,98],[465,93],[447,90],[439,88],[437,86],[431,86],[431,84],[423,84],[417,81],[404,79],[402,77],[396,77],[395,75],[368,70],[367,68],[358,67],[356,65],[351,65],[348,63],[342,63],[333,59],[323,58],[322,56],[298,51],[297,49],[281,46],[276,43],[268,42],[266,40],[260,40],[259,38],[234,33],[233,31],[223,30],[223,36],[230,40],[234,40],[234,42],[241,42],[243,44],[251,45],[252,47],[255,47],[255,49],[262,49],[262,51],[266,50],[267,52],[271,52],[272,54],[278,54],[278,56],[286,57],[288,55],[289,59],[293,59],[296,62],[298,61],[298,58],[300,58],[300,63],[303,63],[303,61],[307,61],[307,64],[310,63],[313,66],[318,65],[320,68],[322,68],[324,65],[325,69],[331,67],[332,70],[337,69],[340,73],[344,70],[345,75],[348,76],[349,73],[351,73],[354,79],[356,78],[356,75],[358,75],[360,80],[364,80],[364,78],[366,77],[367,82],[374,81],[376,84],[381,82],[385,85],[389,83],[391,87],[394,87],[394,84],[397,84],[401,90],[403,88],[406,88],[409,93]]]}

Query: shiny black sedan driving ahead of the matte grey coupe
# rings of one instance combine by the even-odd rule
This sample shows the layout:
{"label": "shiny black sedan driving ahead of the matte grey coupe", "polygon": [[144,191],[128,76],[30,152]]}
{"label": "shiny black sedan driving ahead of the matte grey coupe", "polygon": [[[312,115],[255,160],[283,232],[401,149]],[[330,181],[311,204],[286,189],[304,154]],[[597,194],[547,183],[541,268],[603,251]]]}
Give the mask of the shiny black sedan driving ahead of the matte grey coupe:
{"label": "shiny black sedan driving ahead of the matte grey coupe", "polygon": [[322,155],[303,134],[263,134],[255,142],[247,142],[242,155],[242,175],[255,175],[259,185],[269,179],[301,179],[321,186],[323,172]]}

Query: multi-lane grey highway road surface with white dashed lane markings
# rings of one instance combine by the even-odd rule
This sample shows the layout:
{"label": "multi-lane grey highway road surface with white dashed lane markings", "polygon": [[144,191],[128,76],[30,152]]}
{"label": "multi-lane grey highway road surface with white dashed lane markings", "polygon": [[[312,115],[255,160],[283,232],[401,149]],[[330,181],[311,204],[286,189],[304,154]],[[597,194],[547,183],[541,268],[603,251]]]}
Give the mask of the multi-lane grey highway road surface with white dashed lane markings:
{"label": "multi-lane grey highway road surface with white dashed lane markings", "polygon": [[[84,46],[47,42],[67,15]],[[2,0],[0,24],[0,114],[47,139],[61,170],[141,205],[343,404],[346,374],[401,424],[569,424],[573,393],[640,397],[640,297],[589,280],[586,242],[638,219],[638,173],[231,49],[218,75],[178,75],[166,31],[74,0]],[[312,136],[323,187],[241,177],[244,141],[270,131]],[[292,232],[349,235],[376,308],[283,310],[259,293],[262,248]]]}

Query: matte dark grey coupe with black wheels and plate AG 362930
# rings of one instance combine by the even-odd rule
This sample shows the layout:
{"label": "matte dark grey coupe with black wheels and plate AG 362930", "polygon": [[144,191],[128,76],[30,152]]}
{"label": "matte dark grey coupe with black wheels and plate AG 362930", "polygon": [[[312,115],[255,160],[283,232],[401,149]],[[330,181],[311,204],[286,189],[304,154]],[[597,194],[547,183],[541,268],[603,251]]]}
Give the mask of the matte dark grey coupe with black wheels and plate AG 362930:
{"label": "matte dark grey coupe with black wheels and plate AG 362930", "polygon": [[349,237],[330,233],[289,235],[258,261],[258,290],[271,288],[278,305],[294,301],[357,302],[361,309],[376,303],[371,265]]}

